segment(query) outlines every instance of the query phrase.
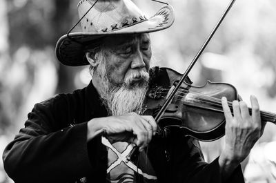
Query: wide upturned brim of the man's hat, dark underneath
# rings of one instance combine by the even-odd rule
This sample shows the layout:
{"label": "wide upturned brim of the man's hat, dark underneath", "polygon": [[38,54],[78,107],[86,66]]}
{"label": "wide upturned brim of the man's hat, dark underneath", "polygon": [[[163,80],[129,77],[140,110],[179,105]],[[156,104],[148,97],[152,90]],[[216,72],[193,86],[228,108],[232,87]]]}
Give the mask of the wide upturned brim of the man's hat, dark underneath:
{"label": "wide upturned brim of the man's hat, dark underneath", "polygon": [[63,35],[57,41],[57,59],[66,66],[85,66],[89,64],[85,55],[86,46],[93,48],[93,46],[99,45],[102,37],[156,32],[172,26],[174,20],[172,6],[168,5],[161,8],[150,19],[120,30],[113,32],[72,32],[69,35]]}

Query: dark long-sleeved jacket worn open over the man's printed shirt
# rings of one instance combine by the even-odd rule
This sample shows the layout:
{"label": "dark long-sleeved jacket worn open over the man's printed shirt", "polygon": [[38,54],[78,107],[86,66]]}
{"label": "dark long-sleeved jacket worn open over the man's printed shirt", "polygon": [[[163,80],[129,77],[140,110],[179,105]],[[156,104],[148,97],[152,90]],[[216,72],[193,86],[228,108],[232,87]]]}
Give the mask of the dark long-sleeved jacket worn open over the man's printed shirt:
{"label": "dark long-sleeved jacket worn open over the man's printed shirt", "polygon": [[[92,86],[36,104],[25,128],[6,147],[4,168],[16,183],[106,182],[107,151],[101,137],[86,142],[87,122],[105,117]],[[197,140],[177,129],[166,140],[153,137],[148,157],[159,182],[221,182],[218,160],[206,164]],[[229,182],[244,182],[237,168]]]}

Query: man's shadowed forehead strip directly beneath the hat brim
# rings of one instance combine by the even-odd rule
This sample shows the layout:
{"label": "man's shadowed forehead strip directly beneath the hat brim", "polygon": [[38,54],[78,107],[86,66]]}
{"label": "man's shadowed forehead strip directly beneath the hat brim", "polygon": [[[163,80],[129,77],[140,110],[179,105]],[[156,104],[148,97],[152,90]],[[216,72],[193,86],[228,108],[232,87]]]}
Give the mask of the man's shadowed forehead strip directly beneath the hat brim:
{"label": "man's shadowed forehead strip directly beneath the hat brim", "polygon": [[113,35],[103,39],[103,44],[106,47],[117,48],[129,44],[150,44],[150,35],[144,34],[131,34],[131,35]]}

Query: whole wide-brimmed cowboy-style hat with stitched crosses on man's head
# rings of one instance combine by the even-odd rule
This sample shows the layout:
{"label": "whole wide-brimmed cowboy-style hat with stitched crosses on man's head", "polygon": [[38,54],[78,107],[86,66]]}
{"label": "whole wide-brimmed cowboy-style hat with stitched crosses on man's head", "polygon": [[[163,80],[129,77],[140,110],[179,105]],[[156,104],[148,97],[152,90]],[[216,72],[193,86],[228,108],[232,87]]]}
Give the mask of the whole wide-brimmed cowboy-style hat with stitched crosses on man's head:
{"label": "whole wide-brimmed cowboy-style hat with stitched crosses on man's head", "polygon": [[156,32],[170,27],[175,19],[169,5],[147,18],[131,0],[95,2],[81,0],[78,3],[82,32],[63,35],[57,41],[57,59],[66,66],[88,65],[86,52],[99,46],[102,37]]}

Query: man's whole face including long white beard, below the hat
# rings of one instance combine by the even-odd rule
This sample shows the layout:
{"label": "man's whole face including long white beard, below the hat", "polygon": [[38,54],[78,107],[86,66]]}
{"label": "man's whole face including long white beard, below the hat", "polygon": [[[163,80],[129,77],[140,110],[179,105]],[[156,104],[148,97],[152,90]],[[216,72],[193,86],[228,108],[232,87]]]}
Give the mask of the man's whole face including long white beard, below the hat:
{"label": "man's whole face including long white beard, below the hat", "polygon": [[150,68],[148,34],[107,37],[93,78],[110,115],[141,112]]}

